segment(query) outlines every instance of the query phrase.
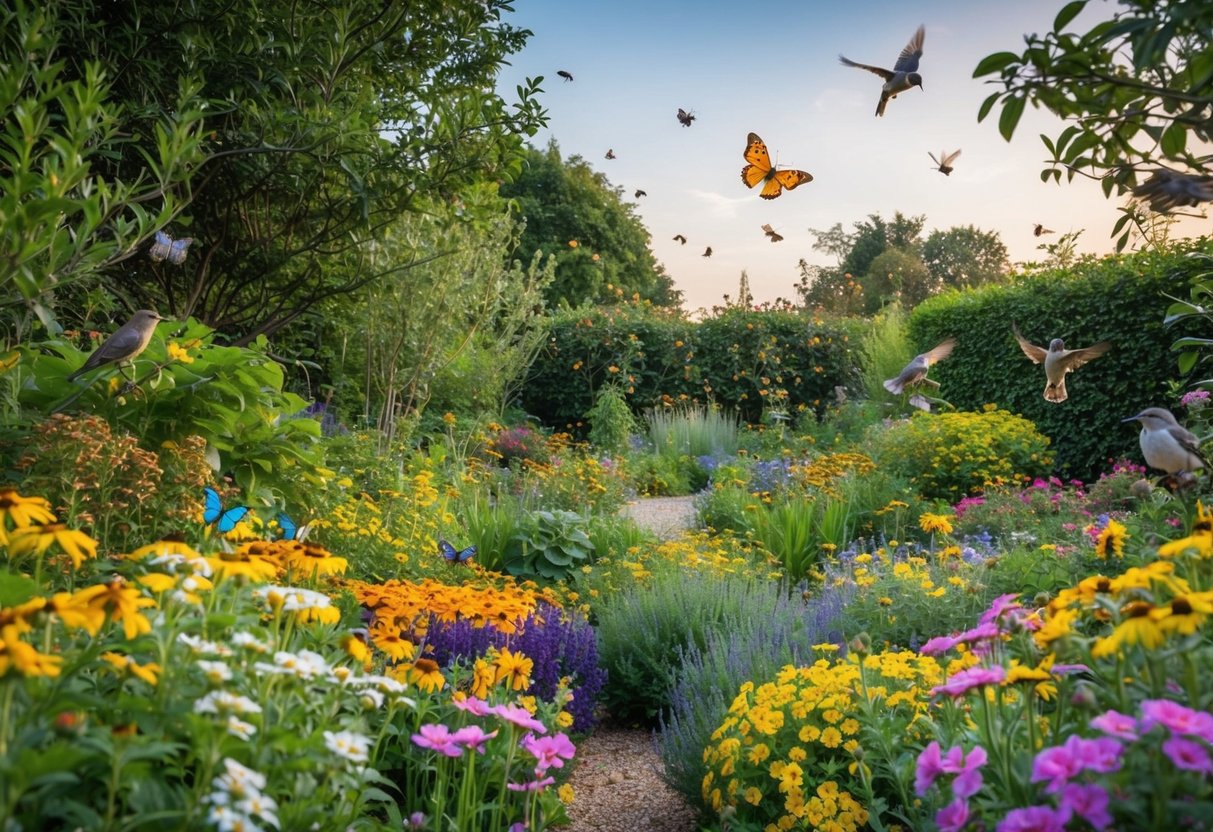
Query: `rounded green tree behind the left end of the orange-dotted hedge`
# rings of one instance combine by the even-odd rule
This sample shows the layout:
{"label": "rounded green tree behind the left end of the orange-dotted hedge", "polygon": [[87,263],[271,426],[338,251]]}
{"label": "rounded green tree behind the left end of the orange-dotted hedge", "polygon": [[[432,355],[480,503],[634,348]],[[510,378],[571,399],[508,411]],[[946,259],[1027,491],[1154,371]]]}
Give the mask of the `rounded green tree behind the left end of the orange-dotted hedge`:
{"label": "rounded green tree behind the left end of the orange-dotted hedge", "polygon": [[522,172],[502,186],[526,222],[517,255],[556,257],[556,281],[547,301],[579,306],[631,298],[676,306],[682,292],[649,249],[649,232],[623,189],[610,184],[581,156],[560,159],[556,141],[546,150],[526,148]]}

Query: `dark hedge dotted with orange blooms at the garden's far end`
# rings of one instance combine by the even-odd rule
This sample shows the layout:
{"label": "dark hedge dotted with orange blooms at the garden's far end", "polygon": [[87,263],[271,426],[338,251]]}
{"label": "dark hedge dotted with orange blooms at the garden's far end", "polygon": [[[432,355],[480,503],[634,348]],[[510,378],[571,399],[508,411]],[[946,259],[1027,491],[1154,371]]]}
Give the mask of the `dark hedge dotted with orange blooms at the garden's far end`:
{"label": "dark hedge dotted with orange blooms at the garden's far end", "polygon": [[793,312],[723,309],[691,321],[644,303],[553,315],[522,393],[545,424],[583,433],[604,384],[620,384],[636,412],[714,401],[757,422],[764,409],[820,412],[856,377],[861,321]]}

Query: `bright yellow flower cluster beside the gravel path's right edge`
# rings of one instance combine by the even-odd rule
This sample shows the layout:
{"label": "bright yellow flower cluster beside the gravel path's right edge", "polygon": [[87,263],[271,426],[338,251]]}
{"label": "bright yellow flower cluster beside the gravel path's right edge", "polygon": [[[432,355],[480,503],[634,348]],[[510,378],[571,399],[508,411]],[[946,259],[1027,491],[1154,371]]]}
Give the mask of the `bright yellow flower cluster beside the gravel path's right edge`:
{"label": "bright yellow flower cluster beside the gravel path's right edge", "polygon": [[[918,731],[945,668],[909,650],[788,665],[774,682],[747,682],[704,751],[704,799],[769,832],[864,828],[852,794],[865,714]],[[845,773],[845,774],[844,774]]]}

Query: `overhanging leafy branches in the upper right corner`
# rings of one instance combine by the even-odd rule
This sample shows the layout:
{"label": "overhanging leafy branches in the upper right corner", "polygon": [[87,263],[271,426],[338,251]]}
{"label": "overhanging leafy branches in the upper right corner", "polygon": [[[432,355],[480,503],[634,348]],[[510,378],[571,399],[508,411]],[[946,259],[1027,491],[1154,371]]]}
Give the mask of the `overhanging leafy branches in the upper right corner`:
{"label": "overhanging leafy branches in the upper right corner", "polygon": [[[1110,21],[1075,34],[1065,28],[1087,0],[1074,0],[1052,32],[1025,38],[1021,55],[984,58],[974,78],[996,75],[990,82],[1003,89],[978,120],[1001,104],[998,131],[1010,141],[1029,103],[1064,119],[1059,135],[1041,136],[1049,153],[1042,181],[1087,176],[1106,196],[1132,190],[1160,211],[1213,200],[1213,156],[1203,155],[1213,141],[1213,5],[1118,1]],[[1126,209],[1112,230],[1120,247],[1135,213]]]}

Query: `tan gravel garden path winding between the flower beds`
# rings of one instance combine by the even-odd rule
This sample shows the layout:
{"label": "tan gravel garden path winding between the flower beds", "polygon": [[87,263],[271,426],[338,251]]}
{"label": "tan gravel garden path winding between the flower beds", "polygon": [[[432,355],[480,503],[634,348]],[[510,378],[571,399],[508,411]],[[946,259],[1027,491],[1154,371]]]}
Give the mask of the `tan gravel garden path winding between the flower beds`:
{"label": "tan gravel garden path winding between the flower beds", "polygon": [[[694,497],[644,497],[620,512],[662,540],[695,523]],[[568,832],[694,832],[695,811],[661,780],[645,729],[602,726],[581,741]]]}

